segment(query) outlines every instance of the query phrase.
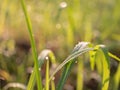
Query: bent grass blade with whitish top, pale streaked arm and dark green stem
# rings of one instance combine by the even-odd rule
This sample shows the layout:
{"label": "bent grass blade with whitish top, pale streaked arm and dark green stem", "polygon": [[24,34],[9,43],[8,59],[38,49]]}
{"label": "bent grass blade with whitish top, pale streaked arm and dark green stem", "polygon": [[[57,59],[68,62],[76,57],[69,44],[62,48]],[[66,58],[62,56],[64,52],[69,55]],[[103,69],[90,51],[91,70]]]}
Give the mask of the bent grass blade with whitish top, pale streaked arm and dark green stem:
{"label": "bent grass blade with whitish top, pale streaked arm and dark green stem", "polygon": [[88,42],[80,42],[78,43],[75,48],[73,49],[72,53],[56,68],[56,70],[53,72],[53,74],[50,77],[50,80],[54,77],[54,75],[63,67],[65,66],[65,69],[63,71],[62,77],[58,83],[57,90],[62,90],[63,85],[70,73],[70,70],[75,62],[76,57],[79,55],[88,52],[90,50],[93,50],[93,48],[87,47],[89,43]]}

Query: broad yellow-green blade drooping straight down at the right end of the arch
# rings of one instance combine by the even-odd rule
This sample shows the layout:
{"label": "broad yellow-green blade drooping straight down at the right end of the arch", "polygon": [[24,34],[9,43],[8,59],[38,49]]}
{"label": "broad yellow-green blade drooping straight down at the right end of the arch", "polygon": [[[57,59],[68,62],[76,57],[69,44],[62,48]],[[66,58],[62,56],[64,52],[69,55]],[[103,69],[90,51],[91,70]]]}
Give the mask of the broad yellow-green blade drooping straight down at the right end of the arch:
{"label": "broad yellow-green blade drooping straight down at the right end of the arch", "polygon": [[110,63],[108,51],[104,46],[97,45],[99,49],[96,53],[96,65],[98,72],[102,76],[102,90],[108,90],[110,78]]}

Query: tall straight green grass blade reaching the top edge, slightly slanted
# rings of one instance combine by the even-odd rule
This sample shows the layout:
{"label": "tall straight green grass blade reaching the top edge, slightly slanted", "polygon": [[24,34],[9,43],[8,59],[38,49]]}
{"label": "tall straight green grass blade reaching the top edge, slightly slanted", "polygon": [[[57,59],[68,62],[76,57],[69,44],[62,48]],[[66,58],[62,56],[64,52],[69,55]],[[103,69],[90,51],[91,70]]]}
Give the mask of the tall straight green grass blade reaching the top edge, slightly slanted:
{"label": "tall straight green grass blade reaching the top edge, slightly slanted", "polygon": [[32,25],[31,25],[30,18],[29,18],[28,13],[27,13],[27,9],[26,9],[24,0],[21,0],[21,5],[23,8],[23,12],[25,15],[25,19],[27,22],[28,31],[29,31],[29,35],[30,35],[32,54],[33,54],[33,59],[34,59],[34,63],[35,63],[35,75],[37,78],[37,87],[38,87],[38,90],[42,90],[42,80],[41,80],[41,76],[39,73],[38,58],[37,58],[38,56],[37,56],[36,45],[35,45],[35,41],[34,41],[33,33],[32,33]]}

